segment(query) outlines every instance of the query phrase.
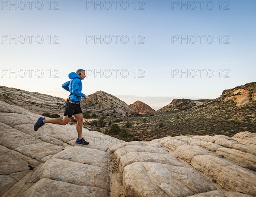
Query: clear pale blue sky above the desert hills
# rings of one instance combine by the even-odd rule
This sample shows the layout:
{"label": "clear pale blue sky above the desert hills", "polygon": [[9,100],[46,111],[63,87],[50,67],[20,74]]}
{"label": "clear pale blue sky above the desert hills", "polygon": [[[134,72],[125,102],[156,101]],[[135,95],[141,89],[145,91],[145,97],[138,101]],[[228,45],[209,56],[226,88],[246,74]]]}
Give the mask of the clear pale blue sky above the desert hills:
{"label": "clear pale blue sky above the desert hills", "polygon": [[61,84],[83,68],[84,94],[158,109],[256,81],[255,0],[23,2],[1,0],[1,86],[65,98]]}

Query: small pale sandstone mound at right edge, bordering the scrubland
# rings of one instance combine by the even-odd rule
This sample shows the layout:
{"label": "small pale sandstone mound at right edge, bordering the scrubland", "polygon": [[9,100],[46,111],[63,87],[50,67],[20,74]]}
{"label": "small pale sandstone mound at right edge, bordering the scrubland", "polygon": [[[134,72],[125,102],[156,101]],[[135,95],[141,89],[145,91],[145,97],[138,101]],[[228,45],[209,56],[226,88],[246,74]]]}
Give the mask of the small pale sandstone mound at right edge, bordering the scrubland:
{"label": "small pale sandstone mound at right edge, bordering the scrubland", "polygon": [[232,137],[234,140],[238,141],[247,146],[251,146],[252,148],[256,148],[256,134],[250,133],[248,131],[240,132],[235,134]]}

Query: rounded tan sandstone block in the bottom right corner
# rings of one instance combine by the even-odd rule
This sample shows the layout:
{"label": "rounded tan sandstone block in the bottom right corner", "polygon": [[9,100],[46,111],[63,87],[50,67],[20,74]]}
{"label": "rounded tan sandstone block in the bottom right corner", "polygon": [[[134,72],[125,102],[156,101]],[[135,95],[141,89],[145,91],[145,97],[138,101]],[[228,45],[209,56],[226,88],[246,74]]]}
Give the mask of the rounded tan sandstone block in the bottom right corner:
{"label": "rounded tan sandstone block in the bottom right corner", "polygon": [[[254,181],[253,181],[254,180]],[[256,195],[256,174],[240,166],[225,166],[221,168],[217,183],[228,191]]]}

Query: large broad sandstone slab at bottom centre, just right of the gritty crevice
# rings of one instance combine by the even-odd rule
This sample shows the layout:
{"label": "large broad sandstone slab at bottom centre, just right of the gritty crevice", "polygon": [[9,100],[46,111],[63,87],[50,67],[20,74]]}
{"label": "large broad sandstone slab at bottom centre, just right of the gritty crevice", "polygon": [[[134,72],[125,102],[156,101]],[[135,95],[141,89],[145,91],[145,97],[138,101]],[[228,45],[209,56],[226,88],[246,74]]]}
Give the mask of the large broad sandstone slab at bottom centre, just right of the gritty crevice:
{"label": "large broad sandstone slab at bottom centre, just right of the gritty crevice", "polygon": [[[134,177],[134,173],[138,175]],[[140,162],[124,168],[124,187],[130,197],[185,197],[216,189],[193,168]]]}

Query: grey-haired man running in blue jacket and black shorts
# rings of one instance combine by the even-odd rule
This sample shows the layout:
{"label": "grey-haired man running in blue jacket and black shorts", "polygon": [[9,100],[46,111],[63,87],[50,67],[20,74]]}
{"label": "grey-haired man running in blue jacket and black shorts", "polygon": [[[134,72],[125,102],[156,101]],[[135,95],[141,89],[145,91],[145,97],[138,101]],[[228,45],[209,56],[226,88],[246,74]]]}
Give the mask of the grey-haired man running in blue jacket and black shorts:
{"label": "grey-haired man running in blue jacket and black shorts", "polygon": [[81,80],[84,80],[85,78],[85,70],[84,69],[78,69],[75,72],[71,72],[68,77],[71,79],[71,81],[67,81],[66,83],[62,84],[62,88],[64,88],[67,91],[70,91],[69,98],[70,100],[67,101],[64,111],[64,116],[62,120],[60,118],[52,118],[49,120],[46,120],[44,117],[38,118],[37,122],[34,125],[34,130],[37,131],[38,128],[43,126],[45,123],[52,123],[57,125],[66,125],[72,115],[76,118],[77,124],[76,124],[76,131],[78,134],[78,138],[76,139],[76,143],[87,145],[89,142],[85,141],[82,137],[82,126],[83,126],[83,112],[81,110],[80,101],[81,97],[85,97],[86,99],[88,96],[85,96],[82,91],[82,82]]}

